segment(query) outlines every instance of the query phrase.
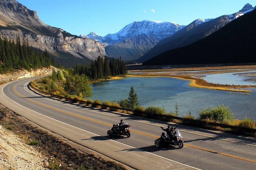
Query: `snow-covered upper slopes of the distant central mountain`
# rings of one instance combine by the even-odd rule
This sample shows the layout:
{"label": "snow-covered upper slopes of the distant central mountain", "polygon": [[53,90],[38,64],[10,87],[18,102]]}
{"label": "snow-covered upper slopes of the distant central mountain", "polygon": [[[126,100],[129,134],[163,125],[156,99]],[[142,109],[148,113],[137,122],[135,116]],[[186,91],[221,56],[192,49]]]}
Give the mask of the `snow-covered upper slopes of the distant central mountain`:
{"label": "snow-covered upper slopes of the distant central mountain", "polygon": [[91,32],[87,36],[91,39],[108,44],[116,44],[124,39],[130,39],[141,34],[146,34],[157,40],[162,40],[166,37],[170,37],[184,27],[185,25],[179,25],[172,22],[143,20],[132,22],[131,24],[126,25],[119,32],[115,34],[108,34],[105,37],[101,37],[94,32]]}

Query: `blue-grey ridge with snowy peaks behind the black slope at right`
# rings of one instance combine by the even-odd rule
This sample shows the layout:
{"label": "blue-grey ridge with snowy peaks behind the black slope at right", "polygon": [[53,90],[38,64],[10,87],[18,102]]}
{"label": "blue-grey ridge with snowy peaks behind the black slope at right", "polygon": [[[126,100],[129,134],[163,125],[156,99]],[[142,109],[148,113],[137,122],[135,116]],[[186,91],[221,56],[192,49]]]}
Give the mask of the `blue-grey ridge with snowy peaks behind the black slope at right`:
{"label": "blue-grey ridge with snowy peaks behind the black slope at right", "polygon": [[215,19],[201,20],[197,19],[187,25],[184,29],[176,32],[171,37],[161,40],[156,46],[145,53],[137,61],[144,62],[156,55],[164,53],[165,51],[186,46],[199,39],[211,35],[213,32],[219,30],[227,25],[230,21],[252,11],[254,8],[250,4],[246,4],[242,10],[231,15],[223,15]]}

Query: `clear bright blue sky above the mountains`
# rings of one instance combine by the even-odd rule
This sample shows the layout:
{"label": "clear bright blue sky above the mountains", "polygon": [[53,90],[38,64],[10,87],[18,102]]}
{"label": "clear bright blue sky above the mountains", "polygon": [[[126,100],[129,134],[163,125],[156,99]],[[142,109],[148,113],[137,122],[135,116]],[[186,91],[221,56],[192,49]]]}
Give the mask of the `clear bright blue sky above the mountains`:
{"label": "clear bright blue sky above the mountains", "polygon": [[17,0],[36,11],[45,24],[74,35],[113,34],[134,21],[150,20],[188,25],[241,10],[256,0]]}

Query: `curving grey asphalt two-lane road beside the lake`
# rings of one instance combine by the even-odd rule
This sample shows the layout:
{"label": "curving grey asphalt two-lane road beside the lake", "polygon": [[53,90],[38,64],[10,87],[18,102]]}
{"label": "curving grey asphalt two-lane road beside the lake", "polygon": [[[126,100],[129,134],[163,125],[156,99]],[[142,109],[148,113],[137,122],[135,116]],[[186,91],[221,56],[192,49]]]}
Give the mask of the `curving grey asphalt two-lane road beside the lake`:
{"label": "curving grey asphalt two-lane road beside the lake", "polygon": [[[255,169],[256,141],[180,124],[184,147],[157,149],[154,140],[167,124],[129,114],[95,110],[41,96],[28,89],[27,78],[0,86],[0,103],[64,138],[134,169]],[[131,137],[107,138],[120,119],[131,124]]]}

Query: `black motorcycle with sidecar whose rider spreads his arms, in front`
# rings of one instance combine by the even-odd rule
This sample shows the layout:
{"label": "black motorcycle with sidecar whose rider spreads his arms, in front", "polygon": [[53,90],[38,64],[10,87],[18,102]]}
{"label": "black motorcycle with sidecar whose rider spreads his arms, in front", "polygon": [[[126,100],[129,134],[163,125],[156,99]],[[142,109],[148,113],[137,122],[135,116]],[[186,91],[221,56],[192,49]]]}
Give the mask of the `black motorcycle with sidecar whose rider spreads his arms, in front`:
{"label": "black motorcycle with sidecar whose rider spreads his arms, in front", "polygon": [[175,131],[175,134],[172,135],[172,137],[168,138],[165,136],[164,132],[162,133],[162,136],[155,140],[155,145],[157,148],[163,146],[163,145],[178,145],[179,148],[183,147],[183,140],[182,136],[180,134],[179,130]]}

